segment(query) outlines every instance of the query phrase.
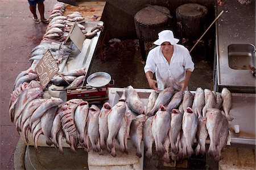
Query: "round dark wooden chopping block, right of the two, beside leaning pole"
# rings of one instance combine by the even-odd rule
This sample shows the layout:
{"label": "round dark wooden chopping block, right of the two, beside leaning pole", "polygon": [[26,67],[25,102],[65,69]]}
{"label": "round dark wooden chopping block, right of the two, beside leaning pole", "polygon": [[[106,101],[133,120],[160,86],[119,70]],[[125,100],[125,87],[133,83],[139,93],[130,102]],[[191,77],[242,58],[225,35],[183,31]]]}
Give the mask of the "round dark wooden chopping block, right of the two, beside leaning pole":
{"label": "round dark wooden chopping block, right of the two, beside leaning pole", "polygon": [[177,7],[176,18],[181,36],[198,37],[203,34],[207,7],[197,3],[186,3]]}

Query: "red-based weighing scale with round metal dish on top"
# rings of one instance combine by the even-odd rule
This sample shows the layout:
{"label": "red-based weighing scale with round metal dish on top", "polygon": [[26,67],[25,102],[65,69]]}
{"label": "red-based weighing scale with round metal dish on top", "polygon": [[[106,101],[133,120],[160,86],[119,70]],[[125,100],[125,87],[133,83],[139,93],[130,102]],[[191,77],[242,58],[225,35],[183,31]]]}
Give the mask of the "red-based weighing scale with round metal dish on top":
{"label": "red-based weighing scale with round metal dish on top", "polygon": [[87,84],[80,88],[67,89],[67,100],[72,98],[84,99],[84,101],[106,101],[109,99],[108,87],[114,85],[114,80],[106,72],[90,74]]}

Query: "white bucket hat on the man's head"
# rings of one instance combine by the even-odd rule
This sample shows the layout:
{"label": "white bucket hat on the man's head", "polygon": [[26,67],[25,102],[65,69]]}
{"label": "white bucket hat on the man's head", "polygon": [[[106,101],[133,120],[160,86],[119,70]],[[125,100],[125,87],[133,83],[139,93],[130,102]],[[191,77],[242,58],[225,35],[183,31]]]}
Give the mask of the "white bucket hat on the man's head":
{"label": "white bucket hat on the man's head", "polygon": [[156,45],[161,45],[163,42],[170,42],[171,44],[177,44],[179,39],[174,38],[174,33],[171,30],[164,30],[159,32],[158,40],[154,42]]}

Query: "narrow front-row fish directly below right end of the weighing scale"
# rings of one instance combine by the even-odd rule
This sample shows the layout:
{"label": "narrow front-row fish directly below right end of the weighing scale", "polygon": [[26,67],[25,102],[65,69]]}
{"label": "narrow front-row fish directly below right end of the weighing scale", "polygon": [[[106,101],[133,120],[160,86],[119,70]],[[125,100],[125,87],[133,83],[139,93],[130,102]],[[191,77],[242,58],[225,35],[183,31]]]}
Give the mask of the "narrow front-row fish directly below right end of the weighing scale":
{"label": "narrow front-row fish directly below right end of the weighing scale", "polygon": [[98,116],[98,131],[100,132],[100,146],[102,150],[106,148],[106,139],[108,138],[108,116],[111,111],[111,106],[108,102],[104,103],[101,108],[101,113]]}

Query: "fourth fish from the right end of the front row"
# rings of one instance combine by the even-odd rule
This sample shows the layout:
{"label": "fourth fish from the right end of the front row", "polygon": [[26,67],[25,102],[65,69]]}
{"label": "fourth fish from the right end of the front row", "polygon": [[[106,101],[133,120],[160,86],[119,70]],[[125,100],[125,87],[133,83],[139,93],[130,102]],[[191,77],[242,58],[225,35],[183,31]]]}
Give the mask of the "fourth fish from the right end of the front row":
{"label": "fourth fish from the right end of the front row", "polygon": [[183,113],[181,113],[177,109],[172,109],[172,114],[171,114],[171,127],[168,132],[168,136],[170,138],[170,144],[171,144],[171,151],[177,155],[179,150],[176,147],[176,142],[177,142],[177,136],[179,132],[182,129],[182,118],[183,118]]}

